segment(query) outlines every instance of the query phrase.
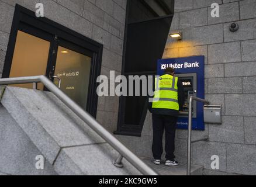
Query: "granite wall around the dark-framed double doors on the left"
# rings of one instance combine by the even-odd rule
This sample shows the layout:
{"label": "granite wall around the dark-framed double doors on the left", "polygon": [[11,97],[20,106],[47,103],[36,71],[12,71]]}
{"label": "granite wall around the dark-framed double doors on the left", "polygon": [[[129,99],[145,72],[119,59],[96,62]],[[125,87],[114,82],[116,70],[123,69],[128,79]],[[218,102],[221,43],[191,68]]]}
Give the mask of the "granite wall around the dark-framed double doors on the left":
{"label": "granite wall around the dark-framed double doors on the left", "polygon": [[[36,3],[44,5],[44,15],[61,25],[102,43],[102,74],[110,70],[120,74],[122,68],[126,0],[1,0],[0,1],[0,77],[15,4],[35,11]],[[116,130],[118,97],[100,97],[97,119],[108,130]]]}

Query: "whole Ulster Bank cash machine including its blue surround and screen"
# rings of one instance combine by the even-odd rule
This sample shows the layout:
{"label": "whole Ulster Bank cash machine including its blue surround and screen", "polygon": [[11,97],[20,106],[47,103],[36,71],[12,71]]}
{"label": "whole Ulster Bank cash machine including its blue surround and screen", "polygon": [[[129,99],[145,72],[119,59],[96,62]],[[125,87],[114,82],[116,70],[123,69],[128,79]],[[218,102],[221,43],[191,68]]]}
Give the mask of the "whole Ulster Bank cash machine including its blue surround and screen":
{"label": "whole Ulster Bank cash machine including its blue surround and screen", "polygon": [[[166,68],[175,69],[175,76],[179,77],[185,91],[185,103],[178,118],[178,128],[188,129],[188,102],[194,95],[205,99],[205,57],[169,58],[158,60],[157,74],[163,75]],[[203,122],[203,103],[193,102],[192,129],[205,130]]]}

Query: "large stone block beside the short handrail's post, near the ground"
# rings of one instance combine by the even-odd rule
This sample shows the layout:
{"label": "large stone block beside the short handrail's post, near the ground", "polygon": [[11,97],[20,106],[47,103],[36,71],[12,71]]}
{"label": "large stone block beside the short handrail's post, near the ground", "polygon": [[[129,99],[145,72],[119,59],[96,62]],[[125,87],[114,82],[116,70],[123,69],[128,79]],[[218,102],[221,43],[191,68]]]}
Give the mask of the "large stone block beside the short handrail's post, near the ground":
{"label": "large stone block beside the short handrail's post, near the ground", "polygon": [[192,146],[192,164],[203,165],[204,169],[212,169],[212,155],[218,155],[219,171],[226,171],[226,143],[199,142]]}

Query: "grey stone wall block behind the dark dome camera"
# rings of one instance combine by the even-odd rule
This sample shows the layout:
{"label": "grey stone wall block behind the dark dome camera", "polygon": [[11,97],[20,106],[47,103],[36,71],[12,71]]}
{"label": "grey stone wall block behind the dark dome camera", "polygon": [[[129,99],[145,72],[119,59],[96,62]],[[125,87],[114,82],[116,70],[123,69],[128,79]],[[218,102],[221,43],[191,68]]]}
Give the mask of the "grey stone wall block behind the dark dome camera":
{"label": "grey stone wall block behind the dark dome camera", "polygon": [[237,32],[229,30],[231,23],[224,23],[223,25],[225,42],[256,39],[256,19],[237,21],[236,23],[239,25]]}

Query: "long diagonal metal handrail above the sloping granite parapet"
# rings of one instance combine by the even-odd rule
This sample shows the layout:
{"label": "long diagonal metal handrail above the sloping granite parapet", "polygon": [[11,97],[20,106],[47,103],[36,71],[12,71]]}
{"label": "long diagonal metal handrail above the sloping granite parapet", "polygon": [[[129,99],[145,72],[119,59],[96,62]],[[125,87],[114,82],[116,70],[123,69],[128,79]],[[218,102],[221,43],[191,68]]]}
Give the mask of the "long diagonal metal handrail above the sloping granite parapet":
{"label": "long diagonal metal handrail above the sloping granite parapet", "polygon": [[65,105],[68,106],[77,116],[79,116],[85,123],[88,124],[99,136],[110,144],[122,157],[126,158],[135,168],[137,168],[144,175],[158,175],[152,168],[148,167],[140,160],[132,151],[124,146],[115,136],[109,133],[101,124],[99,124],[94,117],[85,112],[80,106],[70,99],[64,92],[57,88],[46,76],[40,75],[36,77],[18,77],[18,78],[3,78],[0,79],[0,85],[13,84],[29,84],[33,83],[33,88],[36,88],[37,83],[42,83],[49,91],[54,93]]}

